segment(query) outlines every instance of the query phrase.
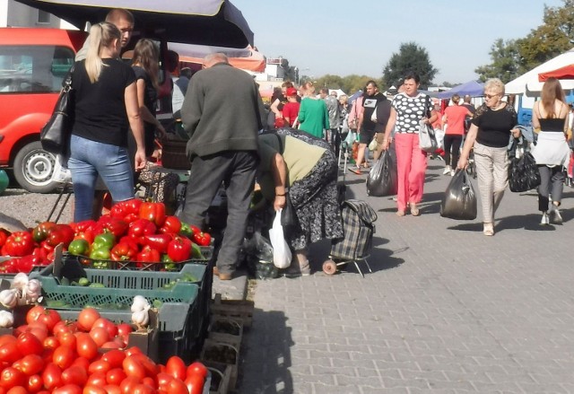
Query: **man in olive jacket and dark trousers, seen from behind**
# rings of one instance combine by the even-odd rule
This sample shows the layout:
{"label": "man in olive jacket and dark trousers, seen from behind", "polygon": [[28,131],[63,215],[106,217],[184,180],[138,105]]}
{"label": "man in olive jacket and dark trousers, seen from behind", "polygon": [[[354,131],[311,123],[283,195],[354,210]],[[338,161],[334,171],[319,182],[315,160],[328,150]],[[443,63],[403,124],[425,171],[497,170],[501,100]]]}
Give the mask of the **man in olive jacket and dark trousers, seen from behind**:
{"label": "man in olive jacket and dark trousers, seen from behind", "polygon": [[230,66],[221,53],[204,58],[187,87],[181,120],[187,134],[191,173],[182,220],[202,228],[215,193],[227,192],[228,217],[214,272],[232,278],[245,235],[258,164],[257,135],[263,102],[249,74]]}

